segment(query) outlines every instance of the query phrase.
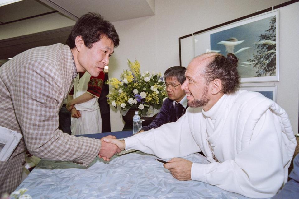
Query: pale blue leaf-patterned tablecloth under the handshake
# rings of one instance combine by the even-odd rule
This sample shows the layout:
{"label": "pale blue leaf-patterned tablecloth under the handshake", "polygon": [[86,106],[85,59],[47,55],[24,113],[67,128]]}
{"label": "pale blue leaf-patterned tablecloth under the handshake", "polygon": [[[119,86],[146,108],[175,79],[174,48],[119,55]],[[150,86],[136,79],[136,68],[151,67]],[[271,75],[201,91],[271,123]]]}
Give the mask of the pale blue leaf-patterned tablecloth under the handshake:
{"label": "pale blue leaf-patterned tablecloth under the handshake", "polygon": [[[154,155],[137,151],[113,156],[109,163],[96,158],[88,168],[69,161],[41,160],[16,189],[27,188],[32,198],[222,198],[245,199],[199,181],[178,181]],[[191,154],[192,162],[208,164]]]}

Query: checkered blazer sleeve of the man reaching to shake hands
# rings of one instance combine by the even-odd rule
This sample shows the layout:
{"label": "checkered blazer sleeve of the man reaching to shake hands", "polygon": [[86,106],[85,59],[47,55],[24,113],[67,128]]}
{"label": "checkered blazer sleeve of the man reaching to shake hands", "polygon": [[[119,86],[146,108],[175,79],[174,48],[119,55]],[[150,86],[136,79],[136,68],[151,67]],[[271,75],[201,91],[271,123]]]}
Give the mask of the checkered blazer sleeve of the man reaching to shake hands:
{"label": "checkered blazer sleeve of the man reaching to shake hands", "polygon": [[50,160],[72,160],[87,166],[97,156],[101,141],[75,137],[58,129],[64,78],[59,67],[31,61],[16,74],[12,102],[26,146],[32,155]]}

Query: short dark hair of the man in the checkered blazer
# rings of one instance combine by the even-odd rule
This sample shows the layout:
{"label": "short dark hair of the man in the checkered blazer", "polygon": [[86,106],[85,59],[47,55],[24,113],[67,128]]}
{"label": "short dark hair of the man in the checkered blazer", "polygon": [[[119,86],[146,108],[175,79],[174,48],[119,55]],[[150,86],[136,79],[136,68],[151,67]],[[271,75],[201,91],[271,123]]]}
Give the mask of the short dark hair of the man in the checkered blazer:
{"label": "short dark hair of the man in the checkered blazer", "polygon": [[114,26],[103,19],[100,14],[88,12],[78,19],[74,25],[66,44],[71,49],[75,48],[75,39],[77,36],[82,36],[84,44],[87,48],[93,47],[93,44],[100,39],[107,37],[112,40],[114,47],[119,45],[118,34]]}

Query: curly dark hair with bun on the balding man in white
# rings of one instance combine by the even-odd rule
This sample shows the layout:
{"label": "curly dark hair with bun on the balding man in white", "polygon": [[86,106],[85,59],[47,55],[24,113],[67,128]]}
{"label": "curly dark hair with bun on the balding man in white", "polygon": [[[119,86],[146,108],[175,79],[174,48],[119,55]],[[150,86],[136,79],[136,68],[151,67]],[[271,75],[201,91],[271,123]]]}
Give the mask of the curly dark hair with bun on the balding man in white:
{"label": "curly dark hair with bun on the balding man in white", "polygon": [[228,53],[227,58],[222,54],[216,54],[214,59],[205,67],[207,83],[220,79],[222,83],[221,92],[225,94],[234,93],[240,84],[237,67],[238,58],[234,54]]}

